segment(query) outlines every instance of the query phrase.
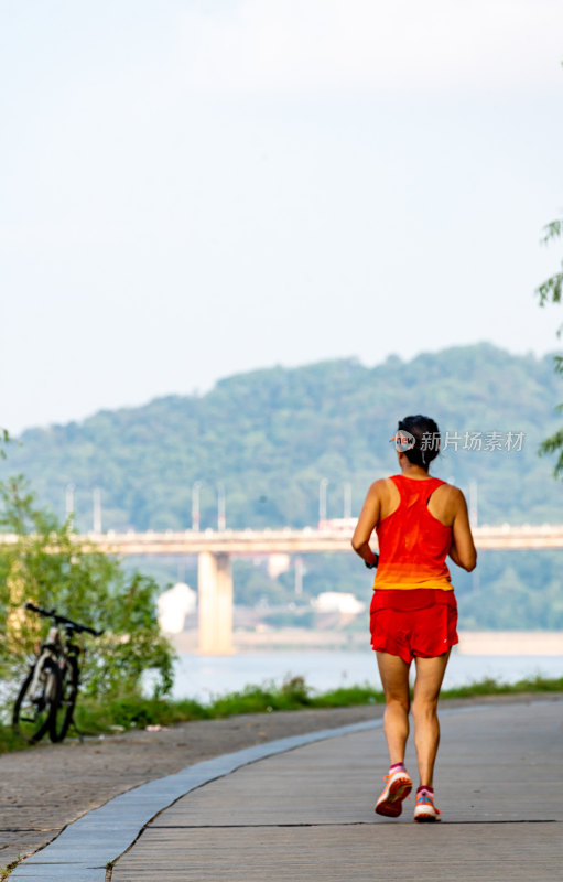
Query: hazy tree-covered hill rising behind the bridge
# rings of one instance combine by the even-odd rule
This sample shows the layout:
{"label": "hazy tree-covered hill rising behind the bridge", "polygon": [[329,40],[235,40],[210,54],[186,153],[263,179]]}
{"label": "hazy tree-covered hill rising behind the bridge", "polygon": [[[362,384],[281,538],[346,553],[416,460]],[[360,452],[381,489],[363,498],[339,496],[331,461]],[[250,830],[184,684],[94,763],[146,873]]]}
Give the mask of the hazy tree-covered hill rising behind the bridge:
{"label": "hazy tree-covered hill rising behind the bridge", "polygon": [[559,424],[562,386],[551,356],[485,343],[409,362],[389,357],[372,368],[354,359],[275,367],[229,377],[201,397],[170,396],[25,431],[0,476],[23,472],[59,515],[74,484],[79,529],[91,529],[94,487],[101,490],[105,529],[190,527],[196,481],[202,528],[216,525],[219,483],[229,527],[303,526],[318,518],[322,477],[328,516],[342,516],[344,482],[357,514],[369,483],[396,471],[389,438],[398,418],[422,412],[462,438],[526,433],[520,452],[450,448],[433,467],[464,488],[477,482],[481,523],[561,520],[562,485],[537,448]]}

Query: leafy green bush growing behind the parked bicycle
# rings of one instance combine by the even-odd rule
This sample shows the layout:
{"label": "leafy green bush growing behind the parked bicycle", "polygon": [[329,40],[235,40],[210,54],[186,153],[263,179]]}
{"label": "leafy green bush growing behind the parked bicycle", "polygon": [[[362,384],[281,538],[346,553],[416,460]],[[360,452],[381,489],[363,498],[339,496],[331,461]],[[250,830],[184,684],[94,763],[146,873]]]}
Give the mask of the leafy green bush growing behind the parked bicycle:
{"label": "leafy green bush growing behind the parked bicycle", "polygon": [[48,627],[26,600],[104,628],[88,638],[83,685],[93,697],[138,693],[155,671],[155,696],[172,688],[173,652],[155,615],[156,582],[126,573],[119,560],[78,547],[72,521],[37,507],[22,476],[0,483],[0,675],[15,684]]}

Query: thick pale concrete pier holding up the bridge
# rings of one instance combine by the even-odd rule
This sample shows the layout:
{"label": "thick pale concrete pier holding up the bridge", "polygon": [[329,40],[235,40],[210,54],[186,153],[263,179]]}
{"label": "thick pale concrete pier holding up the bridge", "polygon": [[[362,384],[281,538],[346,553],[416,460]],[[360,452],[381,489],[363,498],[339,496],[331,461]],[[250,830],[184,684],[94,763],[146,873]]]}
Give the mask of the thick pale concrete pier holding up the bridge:
{"label": "thick pale concrete pier holding up the bridge", "polygon": [[232,652],[232,569],[230,556],[201,551],[197,559],[199,652]]}

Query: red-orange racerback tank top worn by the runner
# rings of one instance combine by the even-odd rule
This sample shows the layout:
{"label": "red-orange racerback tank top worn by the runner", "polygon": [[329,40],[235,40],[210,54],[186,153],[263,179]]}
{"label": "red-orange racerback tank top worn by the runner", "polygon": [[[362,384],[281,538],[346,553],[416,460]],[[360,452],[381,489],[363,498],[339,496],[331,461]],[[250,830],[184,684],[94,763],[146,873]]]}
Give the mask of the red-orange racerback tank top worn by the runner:
{"label": "red-orange racerback tank top worn by the runner", "polygon": [[379,563],[373,588],[452,591],[445,559],[452,544],[452,527],[430,514],[427,503],[444,484],[439,477],[418,481],[392,475],[400,494],[399,507],[379,521]]}

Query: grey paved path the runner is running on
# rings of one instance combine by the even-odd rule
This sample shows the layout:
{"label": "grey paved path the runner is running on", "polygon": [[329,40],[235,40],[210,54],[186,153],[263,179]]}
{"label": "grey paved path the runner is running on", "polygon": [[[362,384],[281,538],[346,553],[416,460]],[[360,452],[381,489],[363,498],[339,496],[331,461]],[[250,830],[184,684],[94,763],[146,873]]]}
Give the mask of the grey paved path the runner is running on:
{"label": "grey paved path the runner is running on", "polygon": [[[387,751],[377,722],[360,725],[371,728],[232,766],[230,774],[203,786],[193,779],[191,793],[147,826],[138,824],[141,835],[107,879],[563,880],[562,701],[443,712],[435,782],[443,811],[439,825],[414,825],[413,800],[398,820],[373,814]],[[414,772],[412,753],[408,765]],[[143,789],[131,793],[140,798]],[[120,818],[127,820],[120,813],[115,817],[118,826]],[[83,860],[88,836],[74,842],[74,870],[69,852],[65,858],[61,850],[64,835],[48,862],[47,849],[18,868],[13,878],[94,879],[95,870]],[[99,874],[100,863],[98,868]]]}

